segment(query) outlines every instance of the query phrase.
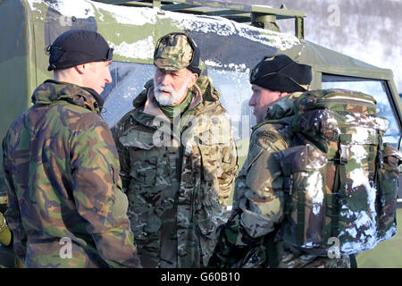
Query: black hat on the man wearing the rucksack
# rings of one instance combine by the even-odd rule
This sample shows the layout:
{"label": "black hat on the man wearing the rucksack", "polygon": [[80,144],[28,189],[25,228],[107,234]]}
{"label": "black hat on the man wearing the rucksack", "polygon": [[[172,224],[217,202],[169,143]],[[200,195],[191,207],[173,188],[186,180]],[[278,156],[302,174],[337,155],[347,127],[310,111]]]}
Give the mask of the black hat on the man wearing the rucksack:
{"label": "black hat on the man wearing the rucksack", "polygon": [[250,73],[250,83],[272,91],[306,91],[312,80],[311,66],[294,62],[288,55],[264,57]]}

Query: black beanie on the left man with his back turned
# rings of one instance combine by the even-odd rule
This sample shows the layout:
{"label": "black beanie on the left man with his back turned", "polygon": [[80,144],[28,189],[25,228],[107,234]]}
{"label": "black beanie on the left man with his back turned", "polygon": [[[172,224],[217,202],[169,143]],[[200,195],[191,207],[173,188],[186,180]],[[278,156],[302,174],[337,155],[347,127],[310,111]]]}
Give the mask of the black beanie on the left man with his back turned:
{"label": "black beanie on the left man with his back turned", "polygon": [[105,38],[92,30],[71,29],[47,46],[49,66],[47,71],[67,69],[82,63],[111,61],[113,48]]}

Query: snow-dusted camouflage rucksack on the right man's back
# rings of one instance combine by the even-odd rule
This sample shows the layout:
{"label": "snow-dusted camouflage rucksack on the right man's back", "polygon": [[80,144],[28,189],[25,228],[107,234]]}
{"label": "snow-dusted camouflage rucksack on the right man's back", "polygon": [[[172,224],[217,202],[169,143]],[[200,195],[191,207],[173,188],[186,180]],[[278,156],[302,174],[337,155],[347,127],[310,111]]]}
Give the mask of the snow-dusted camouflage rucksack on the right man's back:
{"label": "snow-dusted camouflage rucksack on the right man's back", "polygon": [[[286,219],[283,239],[320,256],[374,248],[397,232],[398,165],[382,142],[388,120],[373,97],[344,89],[281,98],[270,121],[288,126],[281,164]],[[263,123],[263,124],[264,124]]]}

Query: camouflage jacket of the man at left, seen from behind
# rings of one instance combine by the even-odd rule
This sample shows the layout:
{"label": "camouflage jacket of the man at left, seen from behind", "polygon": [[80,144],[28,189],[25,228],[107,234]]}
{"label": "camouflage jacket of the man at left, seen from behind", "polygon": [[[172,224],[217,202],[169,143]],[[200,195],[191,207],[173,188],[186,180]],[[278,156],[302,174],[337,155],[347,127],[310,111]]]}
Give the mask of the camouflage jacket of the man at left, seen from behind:
{"label": "camouflage jacket of the man at left, seen from behind", "polygon": [[92,92],[46,80],[4,138],[5,216],[27,267],[140,265],[117,150]]}

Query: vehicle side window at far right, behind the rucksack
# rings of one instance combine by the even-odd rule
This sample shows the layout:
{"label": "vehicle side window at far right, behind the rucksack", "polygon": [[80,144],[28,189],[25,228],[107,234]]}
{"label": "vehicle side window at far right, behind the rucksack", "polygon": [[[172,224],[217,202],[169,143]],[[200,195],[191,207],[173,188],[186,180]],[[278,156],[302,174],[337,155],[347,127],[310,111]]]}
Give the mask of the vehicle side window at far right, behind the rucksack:
{"label": "vehicle side window at far right, behind the rucksack", "polygon": [[371,95],[377,101],[378,112],[389,120],[389,128],[385,133],[384,141],[398,147],[401,130],[397,116],[390,105],[389,91],[384,80],[370,80],[353,77],[344,77],[331,74],[322,74],[322,88],[345,88],[361,91]]}

